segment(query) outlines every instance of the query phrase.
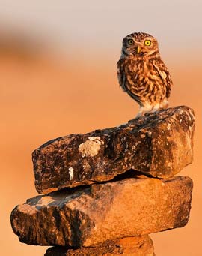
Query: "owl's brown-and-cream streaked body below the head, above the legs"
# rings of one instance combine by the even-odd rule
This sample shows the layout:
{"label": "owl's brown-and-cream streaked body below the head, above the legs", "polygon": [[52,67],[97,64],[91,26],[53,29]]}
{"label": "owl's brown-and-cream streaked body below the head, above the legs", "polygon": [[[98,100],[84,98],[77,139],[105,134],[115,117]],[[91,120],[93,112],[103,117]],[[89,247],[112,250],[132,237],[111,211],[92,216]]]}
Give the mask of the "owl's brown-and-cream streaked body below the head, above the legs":
{"label": "owl's brown-and-cream streaked body below the head, above the legs", "polygon": [[128,56],[120,59],[117,67],[120,86],[141,107],[152,108],[169,97],[171,86],[168,80],[171,78],[161,59],[135,59]]}

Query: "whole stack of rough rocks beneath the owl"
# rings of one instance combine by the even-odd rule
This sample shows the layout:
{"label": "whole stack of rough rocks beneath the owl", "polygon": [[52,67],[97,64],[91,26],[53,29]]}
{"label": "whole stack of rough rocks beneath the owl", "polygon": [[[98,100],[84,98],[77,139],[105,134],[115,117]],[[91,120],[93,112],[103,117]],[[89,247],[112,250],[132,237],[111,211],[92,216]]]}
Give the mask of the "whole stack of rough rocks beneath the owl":
{"label": "whole stack of rough rocks beneath the owl", "polygon": [[154,255],[148,236],[189,220],[195,118],[172,107],[125,125],[71,134],[33,152],[40,194],[10,215],[20,242],[45,255]]}

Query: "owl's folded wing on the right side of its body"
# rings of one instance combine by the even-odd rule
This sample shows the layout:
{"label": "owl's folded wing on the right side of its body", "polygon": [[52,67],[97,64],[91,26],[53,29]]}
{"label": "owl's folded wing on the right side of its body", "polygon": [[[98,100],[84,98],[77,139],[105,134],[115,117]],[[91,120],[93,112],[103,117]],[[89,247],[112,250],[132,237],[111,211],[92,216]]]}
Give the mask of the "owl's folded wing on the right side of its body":
{"label": "owl's folded wing on the right side of its body", "polygon": [[164,62],[162,62],[161,59],[154,60],[153,67],[156,69],[157,74],[159,75],[163,84],[166,87],[166,98],[169,98],[171,94],[171,86],[173,85],[173,82],[171,79],[171,75],[168,71],[168,68],[166,67]]}

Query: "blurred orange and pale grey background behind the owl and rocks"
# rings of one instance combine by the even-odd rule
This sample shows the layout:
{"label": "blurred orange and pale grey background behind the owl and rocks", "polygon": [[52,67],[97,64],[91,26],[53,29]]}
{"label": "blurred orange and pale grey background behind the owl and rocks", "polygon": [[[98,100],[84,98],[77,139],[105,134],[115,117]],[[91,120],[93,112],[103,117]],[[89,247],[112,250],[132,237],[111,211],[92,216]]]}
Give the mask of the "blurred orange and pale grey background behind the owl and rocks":
{"label": "blurred orange and pale grey background behind the owl and rocks", "polygon": [[[195,110],[195,160],[178,175],[194,181],[186,227],[151,235],[157,256],[201,255],[202,4],[177,0],[4,2],[0,11],[1,255],[43,255],[19,242],[10,212],[37,192],[31,152],[55,137],[120,125],[138,104],[117,83],[122,38],[159,39],[174,80],[171,106]],[[9,4],[8,4],[9,3]]]}

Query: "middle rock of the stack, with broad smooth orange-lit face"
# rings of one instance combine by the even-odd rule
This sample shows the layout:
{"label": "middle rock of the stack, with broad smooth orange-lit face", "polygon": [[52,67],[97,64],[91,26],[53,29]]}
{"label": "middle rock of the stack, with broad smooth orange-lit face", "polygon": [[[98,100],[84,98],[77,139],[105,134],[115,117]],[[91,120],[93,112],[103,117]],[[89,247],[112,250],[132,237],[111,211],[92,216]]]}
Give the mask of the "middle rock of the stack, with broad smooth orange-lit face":
{"label": "middle rock of the stack, with broad smooth orange-lit face", "polygon": [[10,221],[27,244],[91,247],[183,227],[191,199],[189,177],[131,177],[31,198],[13,209]]}

